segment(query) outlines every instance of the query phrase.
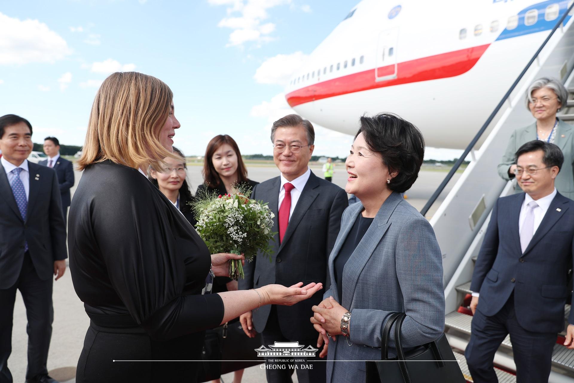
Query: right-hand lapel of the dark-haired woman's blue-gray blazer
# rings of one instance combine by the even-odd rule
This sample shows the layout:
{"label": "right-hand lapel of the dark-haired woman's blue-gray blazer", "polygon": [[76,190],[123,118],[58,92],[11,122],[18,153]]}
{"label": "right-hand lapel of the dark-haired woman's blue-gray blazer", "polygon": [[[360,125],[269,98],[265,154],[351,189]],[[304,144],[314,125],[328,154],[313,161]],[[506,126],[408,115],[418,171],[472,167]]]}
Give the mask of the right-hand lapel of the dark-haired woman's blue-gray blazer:
{"label": "right-hand lapel of the dark-haired woman's blue-gray blazer", "polygon": [[[364,233],[363,239],[359,242],[355,251],[349,257],[343,269],[343,284],[346,286],[348,293],[344,294],[344,300],[341,303],[347,310],[351,310],[351,304],[355,295],[355,288],[359,280],[360,273],[367,264],[376,247],[381,242],[381,238],[389,229],[391,222],[389,219],[398,204],[401,203],[402,196],[400,193],[393,192],[385,203],[381,206],[369,230]],[[354,222],[353,222],[354,223]],[[352,224],[351,224],[352,225]]]}

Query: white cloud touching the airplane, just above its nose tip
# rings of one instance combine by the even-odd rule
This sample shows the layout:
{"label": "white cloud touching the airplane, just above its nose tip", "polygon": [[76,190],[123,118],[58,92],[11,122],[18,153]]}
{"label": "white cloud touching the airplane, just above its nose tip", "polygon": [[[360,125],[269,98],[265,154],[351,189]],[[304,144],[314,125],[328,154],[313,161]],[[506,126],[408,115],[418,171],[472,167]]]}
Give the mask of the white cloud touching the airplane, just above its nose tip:
{"label": "white cloud touching the airplane, just above its nose tip", "polygon": [[253,78],[259,84],[286,85],[291,75],[301,68],[307,57],[308,55],[304,55],[303,52],[271,57],[263,61]]}

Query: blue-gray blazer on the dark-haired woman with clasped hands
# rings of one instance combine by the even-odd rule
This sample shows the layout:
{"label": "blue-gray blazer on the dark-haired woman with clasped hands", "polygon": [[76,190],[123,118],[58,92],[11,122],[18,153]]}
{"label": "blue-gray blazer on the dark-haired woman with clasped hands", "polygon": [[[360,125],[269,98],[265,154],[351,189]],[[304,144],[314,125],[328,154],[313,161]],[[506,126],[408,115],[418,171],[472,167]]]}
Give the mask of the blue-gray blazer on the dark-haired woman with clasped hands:
{"label": "blue-gray blazer on the dark-haired woman with clasped hands", "polygon": [[[435,232],[401,194],[393,192],[375,216],[343,270],[343,301],[333,263],[362,203],[343,213],[341,231],[329,256],[332,295],[351,312],[352,346],[339,336],[329,343],[327,382],[364,382],[366,360],[381,359],[381,328],[392,312],[406,312],[402,345],[414,347],[439,338],[444,330],[443,259]],[[393,326],[394,328],[394,326]],[[393,332],[394,334],[394,332]],[[390,355],[395,356],[394,335]],[[367,346],[367,347],[364,347]],[[338,362],[362,361],[362,362]]]}

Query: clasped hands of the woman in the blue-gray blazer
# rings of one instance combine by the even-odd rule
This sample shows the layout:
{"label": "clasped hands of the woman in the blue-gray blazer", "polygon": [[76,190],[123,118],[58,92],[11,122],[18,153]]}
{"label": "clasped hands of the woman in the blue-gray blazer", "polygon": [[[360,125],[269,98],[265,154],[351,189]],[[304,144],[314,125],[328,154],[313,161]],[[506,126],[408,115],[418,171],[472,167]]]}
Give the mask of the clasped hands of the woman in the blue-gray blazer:
{"label": "clasped hands of the woman in the blue-gray blazer", "polygon": [[[348,310],[332,296],[324,299],[319,305],[313,306],[312,310],[315,314],[311,317],[311,323],[313,323],[315,330],[319,332],[317,347],[321,347],[325,343],[325,347],[319,354],[320,358],[324,358],[327,355],[329,336],[333,338],[333,341],[336,341],[336,335],[342,334],[341,319]],[[327,332],[329,335],[327,335]]]}

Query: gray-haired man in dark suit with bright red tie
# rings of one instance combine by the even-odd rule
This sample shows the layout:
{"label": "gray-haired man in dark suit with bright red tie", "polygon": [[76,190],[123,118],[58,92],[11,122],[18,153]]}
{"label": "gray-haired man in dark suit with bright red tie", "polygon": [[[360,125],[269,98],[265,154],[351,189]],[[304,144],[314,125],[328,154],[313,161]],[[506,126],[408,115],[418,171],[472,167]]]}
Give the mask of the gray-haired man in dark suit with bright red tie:
{"label": "gray-haired man in dark suit with bright red tie", "polygon": [[[348,206],[347,194],[309,169],[315,148],[311,122],[296,114],[278,119],[273,123],[271,140],[273,159],[281,175],[256,185],[251,198],[269,203],[276,215],[273,231],[278,234],[272,242],[272,262],[264,257],[256,260],[256,257],[246,264],[245,280],[239,281],[239,288],[274,283],[291,286],[302,281],[304,285],[323,283],[328,289],[327,260],[339,234],[343,211]],[[241,316],[243,330],[251,336],[254,331],[262,332],[266,347],[274,342],[298,342],[303,347],[315,347],[317,334],[309,322],[309,312],[320,302],[319,296],[289,307],[263,306]],[[267,364],[277,363],[267,361]],[[312,368],[297,368],[299,382],[326,380],[325,362],[299,364],[312,365]],[[267,381],[273,383],[291,382],[292,373],[289,366],[266,369]]]}

